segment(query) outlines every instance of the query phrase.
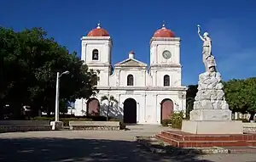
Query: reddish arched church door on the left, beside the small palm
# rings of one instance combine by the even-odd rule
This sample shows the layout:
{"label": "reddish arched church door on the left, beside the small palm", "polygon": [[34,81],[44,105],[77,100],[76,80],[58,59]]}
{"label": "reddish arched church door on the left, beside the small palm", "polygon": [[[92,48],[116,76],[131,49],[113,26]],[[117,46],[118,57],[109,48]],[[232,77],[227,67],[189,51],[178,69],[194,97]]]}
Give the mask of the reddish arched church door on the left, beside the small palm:
{"label": "reddish arched church door on the left, beside the small palm", "polygon": [[100,102],[96,98],[90,98],[87,101],[87,115],[89,116],[100,115]]}

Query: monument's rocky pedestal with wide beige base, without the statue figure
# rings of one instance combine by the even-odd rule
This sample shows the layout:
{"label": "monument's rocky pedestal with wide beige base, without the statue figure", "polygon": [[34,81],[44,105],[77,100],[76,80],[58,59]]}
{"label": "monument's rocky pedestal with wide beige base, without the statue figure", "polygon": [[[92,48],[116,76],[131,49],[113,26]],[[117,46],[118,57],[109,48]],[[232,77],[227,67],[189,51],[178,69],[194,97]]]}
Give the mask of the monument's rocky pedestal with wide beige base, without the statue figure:
{"label": "monument's rocky pedestal with wide beige base, without the statue figure", "polygon": [[183,120],[182,131],[193,134],[242,134],[242,122],[231,120],[224,98],[221,75],[205,72],[199,75],[198,92],[190,120]]}

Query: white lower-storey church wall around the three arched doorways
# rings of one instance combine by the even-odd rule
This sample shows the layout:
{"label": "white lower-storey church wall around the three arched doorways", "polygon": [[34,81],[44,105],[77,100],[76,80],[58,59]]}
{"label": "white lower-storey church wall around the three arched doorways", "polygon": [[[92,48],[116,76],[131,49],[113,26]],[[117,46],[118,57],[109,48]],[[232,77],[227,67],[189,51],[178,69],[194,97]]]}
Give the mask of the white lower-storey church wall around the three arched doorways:
{"label": "white lower-storey church wall around the three arched doorways", "polygon": [[[168,98],[173,102],[173,109],[175,112],[185,110],[185,98],[178,98],[178,92],[166,91],[134,91],[132,94],[127,94],[125,91],[100,91],[96,97],[101,104],[100,114],[106,115],[108,102],[101,102],[101,98],[104,95],[113,95],[119,103],[114,105],[110,109],[110,116],[117,117],[119,119],[123,118],[123,110],[125,99],[133,98],[137,102],[137,123],[140,124],[158,124],[160,125],[160,103]],[[182,105],[183,102],[183,105]],[[182,107],[183,106],[183,107]],[[86,101],[84,99],[78,99],[75,103],[75,108],[73,110],[75,115],[86,115]]]}

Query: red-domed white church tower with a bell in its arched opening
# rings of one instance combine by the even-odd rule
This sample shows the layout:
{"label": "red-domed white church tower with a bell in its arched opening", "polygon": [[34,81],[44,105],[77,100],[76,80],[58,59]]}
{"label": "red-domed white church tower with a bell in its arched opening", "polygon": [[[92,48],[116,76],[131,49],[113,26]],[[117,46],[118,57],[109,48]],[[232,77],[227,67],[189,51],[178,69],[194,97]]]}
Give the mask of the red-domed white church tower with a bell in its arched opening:
{"label": "red-domed white church tower with a bell in its arched opening", "polygon": [[100,70],[98,87],[109,85],[111,73],[112,38],[100,24],[81,38],[81,59],[89,69]]}

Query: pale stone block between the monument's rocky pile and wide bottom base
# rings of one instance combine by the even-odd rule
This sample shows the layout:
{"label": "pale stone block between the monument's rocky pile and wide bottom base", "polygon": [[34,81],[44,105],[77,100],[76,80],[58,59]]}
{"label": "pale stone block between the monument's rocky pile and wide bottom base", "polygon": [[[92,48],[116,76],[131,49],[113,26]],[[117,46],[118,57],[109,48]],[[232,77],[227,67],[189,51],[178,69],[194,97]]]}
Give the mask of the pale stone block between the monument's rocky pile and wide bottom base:
{"label": "pale stone block between the monument's rocky pile and wide bottom base", "polygon": [[230,109],[193,109],[190,120],[231,120]]}

